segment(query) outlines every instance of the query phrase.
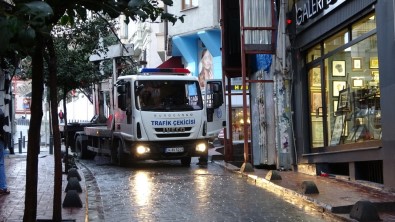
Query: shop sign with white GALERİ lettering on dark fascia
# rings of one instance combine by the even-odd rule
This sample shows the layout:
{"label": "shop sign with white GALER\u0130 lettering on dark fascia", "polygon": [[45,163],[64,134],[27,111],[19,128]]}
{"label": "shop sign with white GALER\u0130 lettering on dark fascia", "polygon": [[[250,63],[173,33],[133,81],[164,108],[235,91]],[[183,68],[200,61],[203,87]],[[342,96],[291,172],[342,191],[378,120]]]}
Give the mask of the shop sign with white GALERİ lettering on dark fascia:
{"label": "shop sign with white GALER\u0130 lettering on dark fascia", "polygon": [[306,0],[295,3],[296,25],[301,26],[318,15],[325,15],[346,0]]}

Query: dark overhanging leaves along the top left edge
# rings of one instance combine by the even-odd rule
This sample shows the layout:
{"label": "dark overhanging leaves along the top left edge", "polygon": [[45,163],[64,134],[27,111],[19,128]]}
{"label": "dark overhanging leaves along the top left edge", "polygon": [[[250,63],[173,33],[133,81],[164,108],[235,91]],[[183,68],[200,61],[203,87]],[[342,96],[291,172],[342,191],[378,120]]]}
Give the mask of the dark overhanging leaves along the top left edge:
{"label": "dark overhanging leaves along the top left edge", "polygon": [[[172,0],[162,2],[173,5]],[[21,56],[31,54],[31,43],[35,41],[37,32],[48,36],[54,24],[72,26],[78,19],[86,21],[87,10],[110,18],[124,14],[127,23],[130,20],[168,20],[174,24],[177,20],[184,20],[183,15],[177,17],[158,7],[158,0],[14,0],[13,3],[0,9],[0,56],[15,51],[19,51]]]}

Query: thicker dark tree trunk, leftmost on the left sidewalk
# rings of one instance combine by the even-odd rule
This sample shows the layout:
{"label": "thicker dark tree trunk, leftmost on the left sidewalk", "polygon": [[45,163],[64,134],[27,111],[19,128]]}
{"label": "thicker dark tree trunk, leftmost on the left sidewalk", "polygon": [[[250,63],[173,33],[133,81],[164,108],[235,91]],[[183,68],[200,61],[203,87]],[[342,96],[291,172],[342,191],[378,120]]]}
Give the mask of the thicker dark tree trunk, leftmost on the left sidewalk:
{"label": "thicker dark tree trunk, leftmost on the left sidewalk", "polygon": [[35,222],[37,217],[37,182],[38,182],[38,154],[40,150],[40,129],[42,111],[42,96],[44,82],[43,37],[36,36],[36,47],[32,57],[32,100],[31,119],[29,126],[29,142],[26,161],[26,188],[24,222]]}

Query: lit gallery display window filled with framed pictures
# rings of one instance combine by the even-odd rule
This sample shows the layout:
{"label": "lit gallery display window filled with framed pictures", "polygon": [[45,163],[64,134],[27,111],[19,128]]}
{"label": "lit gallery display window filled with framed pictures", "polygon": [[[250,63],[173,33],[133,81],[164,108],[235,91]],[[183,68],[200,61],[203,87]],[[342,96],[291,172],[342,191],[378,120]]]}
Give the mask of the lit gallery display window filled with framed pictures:
{"label": "lit gallery display window filled with framed pictures", "polygon": [[[353,24],[353,39],[374,30],[372,21],[370,14]],[[331,52],[325,59],[319,57],[319,44],[306,52],[306,61],[319,61],[307,72],[312,148],[381,139],[377,35],[339,49],[349,42],[350,32],[343,29],[322,42],[324,55]]]}

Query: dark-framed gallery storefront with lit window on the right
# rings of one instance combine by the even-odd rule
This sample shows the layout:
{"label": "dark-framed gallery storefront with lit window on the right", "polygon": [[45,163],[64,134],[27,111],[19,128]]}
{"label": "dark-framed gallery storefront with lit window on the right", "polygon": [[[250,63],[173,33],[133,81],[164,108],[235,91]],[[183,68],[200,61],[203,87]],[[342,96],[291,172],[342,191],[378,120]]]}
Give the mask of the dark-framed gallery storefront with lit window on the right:
{"label": "dark-framed gallery storefront with lit window on the right", "polygon": [[393,2],[317,2],[296,1],[293,7],[298,170],[395,188],[390,173],[395,170],[394,133],[386,131],[394,131],[389,125],[394,124],[394,105],[386,105],[394,99],[384,93],[388,84],[395,84],[392,72],[384,70],[394,65],[381,56],[394,51],[379,41],[394,44],[394,32],[379,28],[391,20],[386,25],[394,29],[394,13],[384,13]]}

